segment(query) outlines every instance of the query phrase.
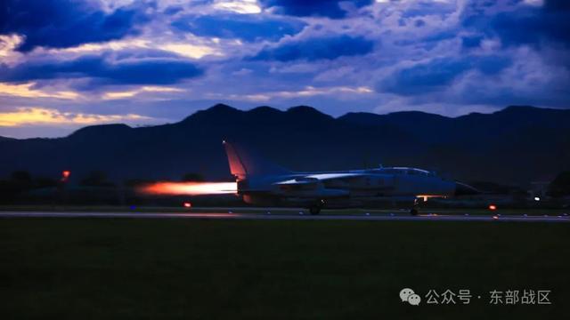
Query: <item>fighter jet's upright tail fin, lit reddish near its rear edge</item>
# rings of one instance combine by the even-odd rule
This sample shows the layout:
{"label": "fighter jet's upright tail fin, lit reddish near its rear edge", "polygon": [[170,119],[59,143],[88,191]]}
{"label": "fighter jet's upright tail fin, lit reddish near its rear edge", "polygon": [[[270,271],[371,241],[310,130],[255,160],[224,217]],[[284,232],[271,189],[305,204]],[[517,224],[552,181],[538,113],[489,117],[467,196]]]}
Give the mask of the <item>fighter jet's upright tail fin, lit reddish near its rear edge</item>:
{"label": "fighter jet's upright tail fin, lit reddish near its rear edge", "polygon": [[247,175],[289,174],[289,170],[278,164],[273,164],[250,150],[236,143],[224,140],[225,153],[228,156],[230,172],[238,179]]}

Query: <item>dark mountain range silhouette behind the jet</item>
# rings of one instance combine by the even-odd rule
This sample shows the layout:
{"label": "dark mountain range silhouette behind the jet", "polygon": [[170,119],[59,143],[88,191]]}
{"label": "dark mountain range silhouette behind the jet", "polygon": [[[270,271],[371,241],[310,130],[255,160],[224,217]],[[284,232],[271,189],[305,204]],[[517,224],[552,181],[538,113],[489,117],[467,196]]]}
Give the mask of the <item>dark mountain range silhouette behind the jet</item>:
{"label": "dark mountain range silhouette behind the jet", "polygon": [[570,169],[570,110],[509,107],[455,118],[410,111],[348,113],[315,108],[242,111],[224,104],[175,124],[87,126],[67,137],[0,138],[0,176],[57,177],[70,170],[110,179],[178,180],[196,172],[231,179],[224,139],[240,140],[294,171],[418,166],[458,180],[526,184]]}

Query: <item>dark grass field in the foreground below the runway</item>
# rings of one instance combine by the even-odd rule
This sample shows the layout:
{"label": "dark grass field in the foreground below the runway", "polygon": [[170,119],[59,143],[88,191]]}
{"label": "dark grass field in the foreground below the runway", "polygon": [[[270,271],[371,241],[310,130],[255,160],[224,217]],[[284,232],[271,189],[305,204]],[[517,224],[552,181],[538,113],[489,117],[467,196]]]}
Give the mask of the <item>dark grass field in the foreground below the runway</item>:
{"label": "dark grass field in the foreground below the runway", "polygon": [[[554,223],[0,220],[0,319],[565,319]],[[468,305],[403,303],[410,287]],[[493,290],[551,305],[490,305]],[[476,299],[480,295],[481,299]]]}

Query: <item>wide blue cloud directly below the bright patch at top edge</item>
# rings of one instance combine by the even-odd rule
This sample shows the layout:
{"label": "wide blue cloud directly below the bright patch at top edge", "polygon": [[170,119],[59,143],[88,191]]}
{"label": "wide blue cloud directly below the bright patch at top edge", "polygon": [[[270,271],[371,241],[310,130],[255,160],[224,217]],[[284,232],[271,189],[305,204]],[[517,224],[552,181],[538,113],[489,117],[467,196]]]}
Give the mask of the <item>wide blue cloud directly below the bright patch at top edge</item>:
{"label": "wide blue cloud directly below the bright patch at top edge", "polygon": [[282,20],[250,14],[228,14],[224,16],[184,16],[172,23],[182,31],[190,31],[198,36],[216,36],[220,38],[240,38],[248,42],[256,40],[281,39],[292,36],[305,28],[305,22]]}

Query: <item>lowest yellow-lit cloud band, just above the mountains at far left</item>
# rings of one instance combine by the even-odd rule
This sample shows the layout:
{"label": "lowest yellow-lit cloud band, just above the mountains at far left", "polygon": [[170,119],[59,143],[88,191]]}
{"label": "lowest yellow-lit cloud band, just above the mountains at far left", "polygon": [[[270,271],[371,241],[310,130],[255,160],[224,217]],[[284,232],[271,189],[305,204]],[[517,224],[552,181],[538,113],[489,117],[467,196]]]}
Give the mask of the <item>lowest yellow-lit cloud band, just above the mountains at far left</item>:
{"label": "lowest yellow-lit cloud band, just above the mountains at far left", "polygon": [[73,125],[73,124],[110,124],[118,122],[141,122],[151,117],[134,114],[94,115],[74,112],[61,112],[52,108],[16,108],[10,112],[0,112],[0,127],[23,125]]}

